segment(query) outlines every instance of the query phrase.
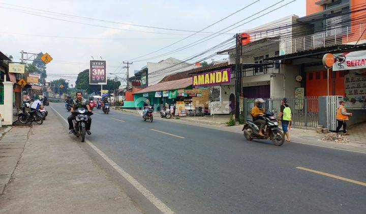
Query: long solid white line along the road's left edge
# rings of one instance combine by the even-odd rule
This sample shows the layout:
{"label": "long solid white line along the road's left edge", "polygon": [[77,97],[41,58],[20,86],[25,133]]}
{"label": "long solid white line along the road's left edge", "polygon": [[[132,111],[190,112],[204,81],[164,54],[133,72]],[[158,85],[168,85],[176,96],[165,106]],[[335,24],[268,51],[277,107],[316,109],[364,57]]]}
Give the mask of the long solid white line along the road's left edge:
{"label": "long solid white line along the road's left edge", "polygon": [[[65,120],[67,124],[68,121],[55,109],[53,109],[52,106],[50,106],[51,109],[58,114],[62,119]],[[101,155],[105,161],[113,167],[121,176],[123,176],[128,182],[130,182],[134,188],[136,188],[143,196],[147,198],[151,203],[153,203],[160,211],[163,213],[174,213],[173,210],[171,210],[167,205],[165,205],[160,199],[158,199],[153,193],[148,191],[143,185],[141,185],[134,177],[132,177],[130,174],[128,174],[124,169],[122,169],[120,166],[118,166],[115,162],[112,161],[104,152],[102,152],[100,149],[98,149],[92,142],[85,139],[85,142],[92,147],[99,155]]]}

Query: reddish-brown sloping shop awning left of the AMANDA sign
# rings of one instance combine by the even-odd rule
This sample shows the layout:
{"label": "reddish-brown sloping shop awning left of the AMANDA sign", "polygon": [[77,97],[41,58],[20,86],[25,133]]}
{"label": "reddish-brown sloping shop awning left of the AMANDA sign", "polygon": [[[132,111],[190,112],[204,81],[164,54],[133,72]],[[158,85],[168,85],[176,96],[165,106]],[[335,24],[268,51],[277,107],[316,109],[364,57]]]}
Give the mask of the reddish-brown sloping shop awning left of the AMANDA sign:
{"label": "reddish-brown sloping shop awning left of the AMANDA sign", "polygon": [[134,94],[141,94],[146,92],[153,92],[153,91],[166,91],[166,90],[174,90],[174,89],[184,89],[188,86],[192,85],[192,78],[184,78],[178,79],[176,81],[168,81],[164,83],[157,83],[147,88],[144,88]]}

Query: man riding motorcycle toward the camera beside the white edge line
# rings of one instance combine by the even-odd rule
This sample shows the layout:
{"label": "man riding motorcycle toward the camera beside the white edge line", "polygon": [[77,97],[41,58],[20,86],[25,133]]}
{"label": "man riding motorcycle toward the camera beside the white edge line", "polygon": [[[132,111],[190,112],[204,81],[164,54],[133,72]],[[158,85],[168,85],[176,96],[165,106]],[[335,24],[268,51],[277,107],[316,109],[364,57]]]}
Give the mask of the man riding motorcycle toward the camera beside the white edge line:
{"label": "man riding motorcycle toward the camera beside the white edge line", "polygon": [[[76,115],[72,114],[72,113],[75,112],[75,110],[78,108],[84,108],[88,112],[92,112],[90,110],[89,103],[87,102],[86,99],[82,98],[82,93],[80,91],[76,92],[76,99],[74,100],[74,103],[71,105],[71,115],[68,117],[70,133],[74,133],[74,131],[75,131],[74,124],[72,121],[75,120]],[[85,127],[86,133],[88,135],[92,135],[92,132],[90,132],[90,126],[92,125],[92,118],[90,118],[89,116],[87,116],[87,117],[88,117],[88,120],[87,120],[86,127]]]}

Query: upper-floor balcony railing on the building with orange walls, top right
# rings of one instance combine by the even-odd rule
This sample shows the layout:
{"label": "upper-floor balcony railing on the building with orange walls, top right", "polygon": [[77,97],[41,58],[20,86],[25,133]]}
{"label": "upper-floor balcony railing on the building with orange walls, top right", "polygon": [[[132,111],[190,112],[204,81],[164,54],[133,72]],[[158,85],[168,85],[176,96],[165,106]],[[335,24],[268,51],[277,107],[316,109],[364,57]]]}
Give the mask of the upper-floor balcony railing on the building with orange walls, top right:
{"label": "upper-floor balcony railing on the building with orange walls, top right", "polygon": [[366,39],[366,33],[362,35],[365,28],[366,23],[360,23],[352,28],[342,26],[304,37],[282,40],[280,55],[356,42],[361,36],[361,39]]}

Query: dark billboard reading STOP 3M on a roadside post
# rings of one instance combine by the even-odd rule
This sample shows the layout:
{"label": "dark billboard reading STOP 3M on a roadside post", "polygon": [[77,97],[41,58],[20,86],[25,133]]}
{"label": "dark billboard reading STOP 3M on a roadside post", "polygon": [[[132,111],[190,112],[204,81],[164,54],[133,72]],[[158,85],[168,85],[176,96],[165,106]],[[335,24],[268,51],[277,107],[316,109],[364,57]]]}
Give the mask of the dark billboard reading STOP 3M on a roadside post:
{"label": "dark billboard reading STOP 3M on a roadside post", "polygon": [[107,69],[105,60],[90,60],[89,84],[107,85]]}

